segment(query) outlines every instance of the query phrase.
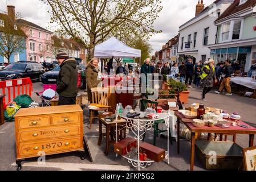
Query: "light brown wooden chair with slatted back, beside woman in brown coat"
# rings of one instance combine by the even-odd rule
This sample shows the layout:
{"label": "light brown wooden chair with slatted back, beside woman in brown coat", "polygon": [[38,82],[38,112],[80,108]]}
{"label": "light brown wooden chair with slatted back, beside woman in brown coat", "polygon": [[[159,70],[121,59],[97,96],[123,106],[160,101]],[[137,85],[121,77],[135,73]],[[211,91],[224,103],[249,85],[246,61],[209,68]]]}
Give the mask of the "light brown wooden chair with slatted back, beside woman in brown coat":
{"label": "light brown wooden chair with slatted back, beside woman in brown coat", "polygon": [[108,88],[92,88],[92,102],[90,105],[102,105],[106,107],[99,107],[99,109],[90,109],[90,130],[92,127],[92,120],[94,118],[99,118],[95,113],[97,111],[107,111],[108,110]]}

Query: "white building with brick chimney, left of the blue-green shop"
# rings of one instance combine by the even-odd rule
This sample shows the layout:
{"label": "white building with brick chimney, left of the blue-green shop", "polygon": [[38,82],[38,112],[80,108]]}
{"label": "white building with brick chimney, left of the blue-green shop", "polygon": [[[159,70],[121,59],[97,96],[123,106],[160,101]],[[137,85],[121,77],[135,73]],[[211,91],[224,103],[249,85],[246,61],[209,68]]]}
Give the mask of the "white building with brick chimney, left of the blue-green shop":
{"label": "white building with brick chimney, left of the blue-green shop", "polygon": [[193,63],[210,59],[209,44],[217,42],[217,26],[214,21],[233,3],[234,0],[217,0],[208,7],[198,1],[196,16],[179,27],[178,60],[188,57]]}

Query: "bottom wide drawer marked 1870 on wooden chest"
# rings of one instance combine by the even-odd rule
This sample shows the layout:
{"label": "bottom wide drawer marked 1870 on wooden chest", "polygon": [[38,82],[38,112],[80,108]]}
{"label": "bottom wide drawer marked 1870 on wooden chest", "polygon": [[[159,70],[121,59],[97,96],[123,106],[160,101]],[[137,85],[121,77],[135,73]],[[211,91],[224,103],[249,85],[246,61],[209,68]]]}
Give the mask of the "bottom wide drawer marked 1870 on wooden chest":
{"label": "bottom wide drawer marked 1870 on wooden chest", "polygon": [[[83,140],[82,140],[83,141]],[[33,155],[38,152],[59,152],[72,150],[74,148],[83,148],[80,137],[68,139],[55,139],[32,144],[21,144],[21,155]]]}

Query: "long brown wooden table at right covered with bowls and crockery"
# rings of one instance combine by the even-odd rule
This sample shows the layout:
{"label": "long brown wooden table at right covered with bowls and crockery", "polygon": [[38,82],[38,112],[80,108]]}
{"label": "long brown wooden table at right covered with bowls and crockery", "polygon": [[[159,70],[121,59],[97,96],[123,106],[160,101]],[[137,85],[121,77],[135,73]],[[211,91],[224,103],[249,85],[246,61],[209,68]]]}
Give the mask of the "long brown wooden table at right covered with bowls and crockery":
{"label": "long brown wooden table at right covered with bowls and crockery", "polygon": [[249,126],[249,129],[240,127],[240,126],[230,126],[230,128],[224,129],[220,127],[196,127],[192,124],[192,119],[186,119],[181,113],[175,112],[175,115],[178,119],[178,127],[177,127],[177,152],[180,154],[180,123],[184,123],[186,127],[191,131],[191,162],[190,162],[190,170],[194,169],[194,144],[196,143],[196,135],[198,133],[216,133],[216,134],[248,134],[249,139],[249,147],[253,146],[254,135],[256,134],[256,129],[250,125],[247,125],[244,122],[240,122],[242,125]]}

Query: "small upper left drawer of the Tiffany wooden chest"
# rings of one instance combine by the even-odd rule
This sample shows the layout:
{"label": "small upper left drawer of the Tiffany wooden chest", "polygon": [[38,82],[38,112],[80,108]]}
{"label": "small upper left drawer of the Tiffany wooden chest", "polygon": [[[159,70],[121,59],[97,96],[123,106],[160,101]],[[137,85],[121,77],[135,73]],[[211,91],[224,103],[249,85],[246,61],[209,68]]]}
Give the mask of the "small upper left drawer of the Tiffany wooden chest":
{"label": "small upper left drawer of the Tiffany wooden chest", "polygon": [[45,115],[36,115],[33,117],[19,117],[18,123],[20,129],[50,126],[50,117]]}

